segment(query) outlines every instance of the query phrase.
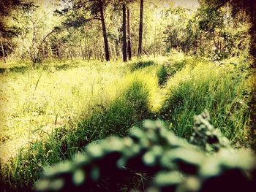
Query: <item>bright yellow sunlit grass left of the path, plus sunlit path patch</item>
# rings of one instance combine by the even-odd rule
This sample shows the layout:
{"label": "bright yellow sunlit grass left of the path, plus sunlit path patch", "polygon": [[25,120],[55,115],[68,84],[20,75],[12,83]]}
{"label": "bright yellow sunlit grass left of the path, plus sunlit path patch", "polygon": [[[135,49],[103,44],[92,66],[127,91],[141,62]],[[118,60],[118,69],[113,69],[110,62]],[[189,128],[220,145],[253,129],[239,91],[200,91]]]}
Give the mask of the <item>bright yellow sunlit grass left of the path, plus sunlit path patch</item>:
{"label": "bright yellow sunlit grass left of the path, plus sunlit path patch", "polygon": [[[158,58],[156,63],[163,61],[164,58]],[[75,60],[45,63],[37,69],[29,68],[22,74],[15,71],[2,73],[2,161],[53,128],[74,124],[88,116],[96,104],[108,106],[135,80],[153,78],[146,84],[151,95],[154,95],[158,66],[131,72],[136,65],[136,61],[135,64],[123,64]],[[60,69],[61,66],[66,68]],[[11,63],[9,67],[15,66]],[[153,106],[154,99],[152,96],[150,98],[148,106]]]}

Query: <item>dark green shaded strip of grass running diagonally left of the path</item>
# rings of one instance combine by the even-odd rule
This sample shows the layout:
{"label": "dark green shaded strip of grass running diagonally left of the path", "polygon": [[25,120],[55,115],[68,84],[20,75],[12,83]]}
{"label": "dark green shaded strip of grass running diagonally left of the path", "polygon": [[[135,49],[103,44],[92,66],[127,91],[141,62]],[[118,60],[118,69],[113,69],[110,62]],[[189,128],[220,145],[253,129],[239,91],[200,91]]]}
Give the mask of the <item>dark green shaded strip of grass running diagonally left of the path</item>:
{"label": "dark green shaded strip of grass running diagonally left of the path", "polygon": [[[2,169],[1,178],[9,179],[15,190],[31,191],[38,180],[43,166],[72,158],[89,142],[110,135],[126,136],[129,128],[151,114],[148,110],[148,91],[142,82],[135,81],[113,101],[109,107],[96,106],[89,117],[72,128],[56,128],[46,141],[37,141],[28,149],[20,151],[10,166]],[[3,181],[0,180],[0,184]]]}

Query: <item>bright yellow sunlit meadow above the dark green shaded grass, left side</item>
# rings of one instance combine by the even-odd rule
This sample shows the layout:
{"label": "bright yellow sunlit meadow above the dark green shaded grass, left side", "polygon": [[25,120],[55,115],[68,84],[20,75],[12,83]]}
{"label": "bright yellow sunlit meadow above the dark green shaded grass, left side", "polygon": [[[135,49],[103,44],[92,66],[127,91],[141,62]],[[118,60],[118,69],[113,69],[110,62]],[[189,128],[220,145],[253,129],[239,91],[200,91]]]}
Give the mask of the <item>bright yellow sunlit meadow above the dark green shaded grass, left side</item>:
{"label": "bright yellow sunlit meadow above the dark green shaded grass, left side", "polygon": [[75,120],[82,111],[90,111],[99,99],[111,100],[114,94],[106,96],[105,92],[116,88],[107,85],[115,86],[113,82],[127,72],[124,64],[95,62],[62,71],[53,68],[29,70],[23,75],[1,74],[1,138],[12,141],[1,146],[1,157],[20,147],[13,142],[25,144]]}

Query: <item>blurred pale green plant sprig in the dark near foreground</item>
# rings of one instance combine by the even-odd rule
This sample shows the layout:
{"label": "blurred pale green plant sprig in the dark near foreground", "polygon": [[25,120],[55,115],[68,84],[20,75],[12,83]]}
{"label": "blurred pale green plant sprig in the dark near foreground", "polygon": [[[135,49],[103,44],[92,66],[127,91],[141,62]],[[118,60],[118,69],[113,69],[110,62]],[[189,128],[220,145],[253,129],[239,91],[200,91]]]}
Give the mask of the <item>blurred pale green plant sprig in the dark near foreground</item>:
{"label": "blurred pale green plant sprig in the dark near foreground", "polygon": [[[195,121],[196,127],[206,125],[208,116],[203,113]],[[206,155],[167,131],[161,121],[145,120],[129,137],[92,143],[74,161],[45,169],[36,190],[116,191],[132,172],[144,172],[153,177],[148,191],[219,191],[230,185],[246,191],[255,185],[253,171],[255,156],[249,151],[220,149]]]}

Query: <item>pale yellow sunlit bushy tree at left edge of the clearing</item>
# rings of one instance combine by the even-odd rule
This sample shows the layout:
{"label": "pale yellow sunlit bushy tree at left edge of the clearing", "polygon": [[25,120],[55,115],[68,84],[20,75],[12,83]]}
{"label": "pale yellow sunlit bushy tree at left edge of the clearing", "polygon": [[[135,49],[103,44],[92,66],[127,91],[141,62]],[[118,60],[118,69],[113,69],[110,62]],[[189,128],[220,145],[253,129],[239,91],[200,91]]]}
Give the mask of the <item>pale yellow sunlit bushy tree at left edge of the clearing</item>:
{"label": "pale yellow sunlit bushy tree at left edge of the clearing", "polygon": [[16,12],[17,25],[21,28],[18,43],[25,50],[20,52],[29,55],[34,65],[48,58],[49,39],[60,30],[59,18],[53,15],[54,9],[53,4],[38,2],[29,11]]}

